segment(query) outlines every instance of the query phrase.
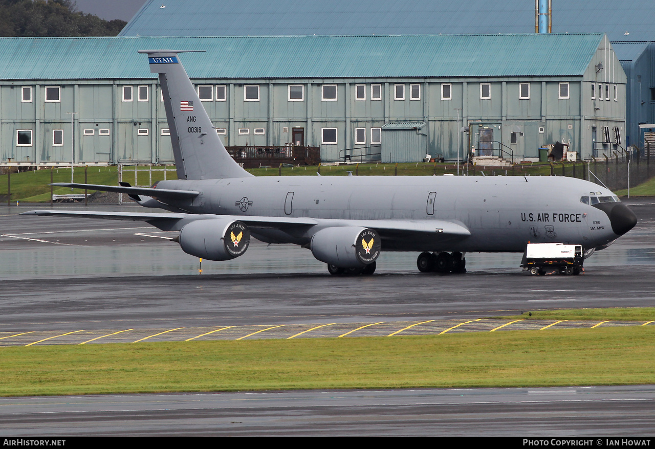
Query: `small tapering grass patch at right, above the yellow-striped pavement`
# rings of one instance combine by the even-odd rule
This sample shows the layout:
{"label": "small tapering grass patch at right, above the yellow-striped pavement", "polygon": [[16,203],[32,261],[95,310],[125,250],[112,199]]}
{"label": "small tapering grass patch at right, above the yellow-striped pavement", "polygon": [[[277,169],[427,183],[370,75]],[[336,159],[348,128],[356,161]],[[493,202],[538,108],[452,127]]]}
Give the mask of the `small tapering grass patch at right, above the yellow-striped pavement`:
{"label": "small tapering grass patch at right, above the yellow-striped pavement", "polygon": [[492,318],[652,321],[655,320],[655,307],[531,310],[523,312],[521,315],[498,316]]}

